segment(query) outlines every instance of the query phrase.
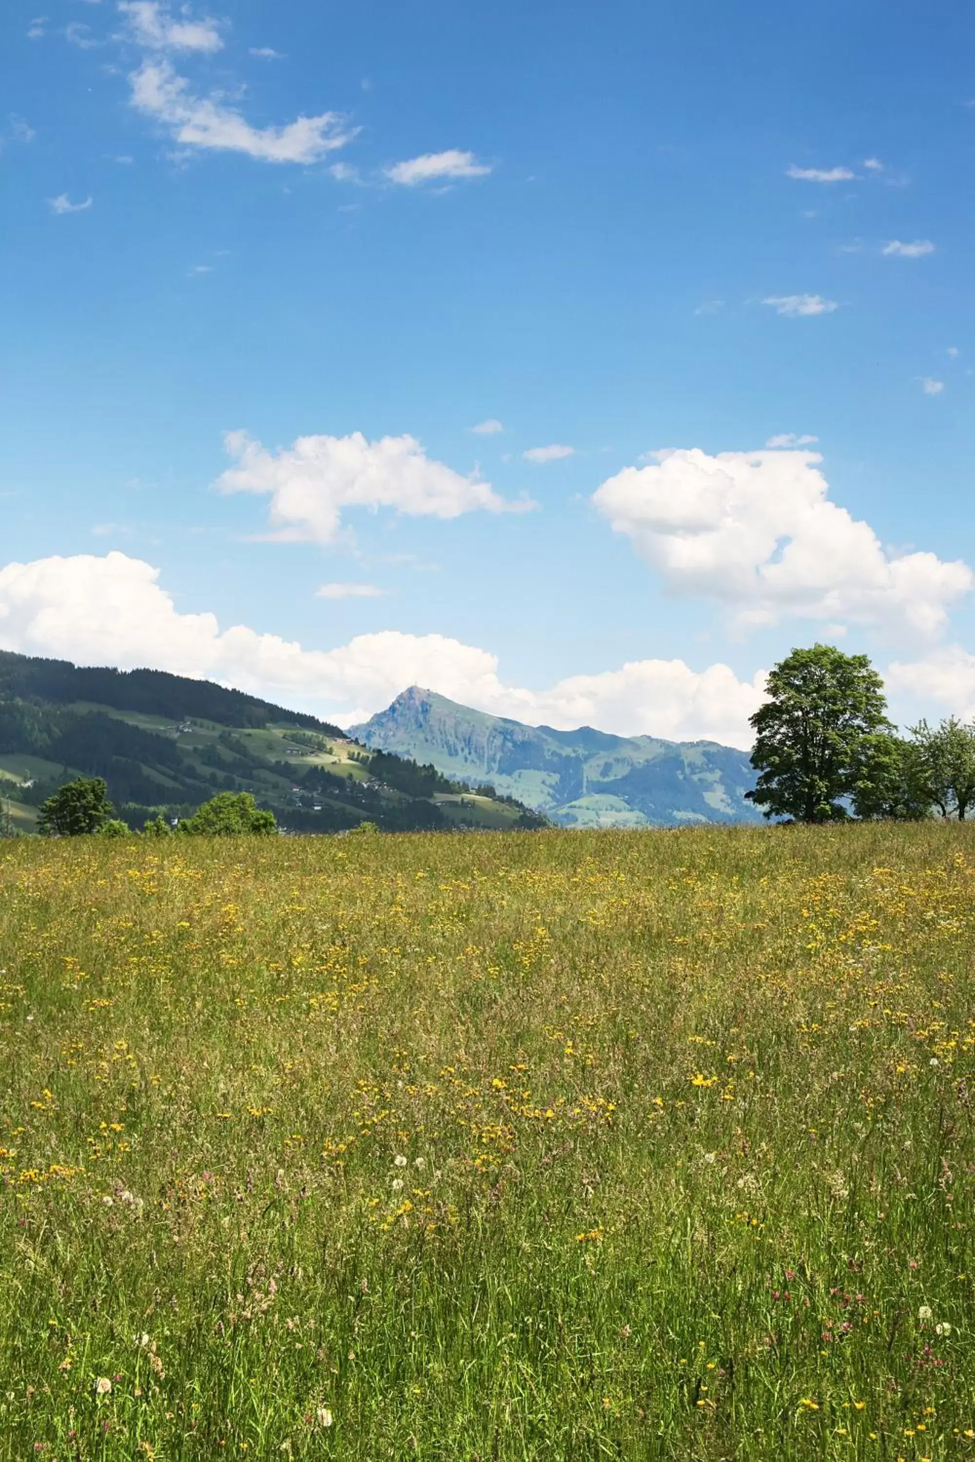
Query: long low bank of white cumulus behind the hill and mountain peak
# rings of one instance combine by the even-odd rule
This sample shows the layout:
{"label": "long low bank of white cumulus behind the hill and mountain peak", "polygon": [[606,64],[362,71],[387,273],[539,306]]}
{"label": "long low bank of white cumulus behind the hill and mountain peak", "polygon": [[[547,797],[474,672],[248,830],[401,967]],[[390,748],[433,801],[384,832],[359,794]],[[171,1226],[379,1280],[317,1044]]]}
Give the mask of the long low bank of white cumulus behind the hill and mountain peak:
{"label": "long low bank of white cumulus behind the hill and mountain peak", "polygon": [[588,722],[624,735],[709,738],[748,746],[748,715],[765,675],[741,681],[726,665],[634,661],[573,675],[548,690],[506,684],[497,656],[443,635],[386,630],[338,649],[213,614],[180,613],[159,570],[123,553],[39,558],[0,569],[0,648],[83,665],[151,667],[218,680],[345,724],[383,709],[411,684],[497,715],[570,730]]}

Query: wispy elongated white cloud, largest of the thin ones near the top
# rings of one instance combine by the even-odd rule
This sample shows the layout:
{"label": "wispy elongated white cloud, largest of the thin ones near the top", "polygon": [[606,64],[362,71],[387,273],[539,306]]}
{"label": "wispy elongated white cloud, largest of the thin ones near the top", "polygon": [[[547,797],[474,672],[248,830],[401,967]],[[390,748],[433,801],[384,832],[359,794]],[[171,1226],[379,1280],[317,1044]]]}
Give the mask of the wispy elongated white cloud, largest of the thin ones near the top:
{"label": "wispy elongated white cloud, largest of the thin ones near the top", "polygon": [[167,60],[146,61],[129,77],[132,105],[170,129],[187,148],[246,152],[265,162],[317,162],[355,136],[333,111],[284,127],[253,127],[218,94],[196,96]]}

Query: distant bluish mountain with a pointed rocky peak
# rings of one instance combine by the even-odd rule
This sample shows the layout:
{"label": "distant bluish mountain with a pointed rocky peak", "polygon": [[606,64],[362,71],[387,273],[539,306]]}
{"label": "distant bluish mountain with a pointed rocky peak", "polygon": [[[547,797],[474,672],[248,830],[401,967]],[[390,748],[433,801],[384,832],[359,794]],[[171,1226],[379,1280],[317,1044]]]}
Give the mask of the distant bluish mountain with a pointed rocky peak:
{"label": "distant bluish mountain with a pointed rocky peak", "polygon": [[554,731],[459,706],[412,686],[352,727],[364,746],[428,762],[444,776],[490,784],[573,827],[668,827],[760,822],[747,751],[715,741]]}

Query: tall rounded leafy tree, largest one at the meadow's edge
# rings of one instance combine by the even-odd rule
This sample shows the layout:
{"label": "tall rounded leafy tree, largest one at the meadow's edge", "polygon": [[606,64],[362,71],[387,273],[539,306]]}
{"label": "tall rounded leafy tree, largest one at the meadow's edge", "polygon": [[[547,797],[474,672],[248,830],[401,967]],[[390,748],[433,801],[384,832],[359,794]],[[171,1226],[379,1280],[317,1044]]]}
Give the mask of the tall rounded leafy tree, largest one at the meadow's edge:
{"label": "tall rounded leafy tree, largest one at the meadow's edge", "polygon": [[893,730],[880,675],[865,655],[814,645],[778,664],[766,692],[751,716],[759,782],[746,797],[766,817],[846,817],[842,800],[855,792],[870,738]]}

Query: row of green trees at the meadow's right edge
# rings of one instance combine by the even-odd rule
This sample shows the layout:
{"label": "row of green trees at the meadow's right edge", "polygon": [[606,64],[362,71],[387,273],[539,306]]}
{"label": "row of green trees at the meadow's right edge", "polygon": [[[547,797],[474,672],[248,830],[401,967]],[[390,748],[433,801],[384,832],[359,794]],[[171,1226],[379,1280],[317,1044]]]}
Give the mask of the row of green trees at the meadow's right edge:
{"label": "row of green trees at the meadow's right edge", "polygon": [[751,716],[759,781],[746,792],[766,817],[963,820],[975,806],[975,727],[950,716],[898,735],[865,655],[795,649],[770,673],[766,693]]}

